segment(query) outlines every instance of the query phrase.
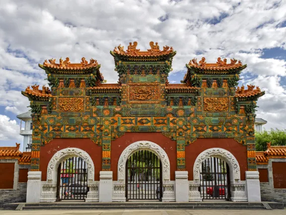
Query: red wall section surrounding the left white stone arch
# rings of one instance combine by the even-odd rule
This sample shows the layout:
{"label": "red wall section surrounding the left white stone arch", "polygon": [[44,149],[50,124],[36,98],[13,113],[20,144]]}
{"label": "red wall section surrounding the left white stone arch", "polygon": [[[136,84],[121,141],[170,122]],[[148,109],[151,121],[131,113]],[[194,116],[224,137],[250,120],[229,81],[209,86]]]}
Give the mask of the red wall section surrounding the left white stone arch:
{"label": "red wall section surrounding the left white stone arch", "polygon": [[89,154],[94,164],[94,180],[99,181],[99,171],[101,171],[102,160],[102,147],[98,146],[87,138],[55,138],[47,145],[42,146],[40,153],[40,171],[42,171],[42,181],[47,180],[47,168],[53,155],[57,151],[73,147],[82,149]]}

